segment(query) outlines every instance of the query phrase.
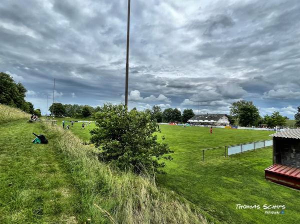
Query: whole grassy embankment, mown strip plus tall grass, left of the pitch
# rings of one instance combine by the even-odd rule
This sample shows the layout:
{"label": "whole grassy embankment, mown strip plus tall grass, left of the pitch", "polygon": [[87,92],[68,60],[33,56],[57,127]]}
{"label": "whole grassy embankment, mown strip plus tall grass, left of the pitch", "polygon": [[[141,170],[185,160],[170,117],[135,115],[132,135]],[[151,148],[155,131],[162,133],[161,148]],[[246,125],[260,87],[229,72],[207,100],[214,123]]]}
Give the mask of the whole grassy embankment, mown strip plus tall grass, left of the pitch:
{"label": "whole grassy embankment, mown strip plus tall grass, left of the pitch", "polygon": [[[32,132],[49,144],[31,143]],[[59,126],[18,119],[0,133],[1,224],[218,223],[152,178],[99,162],[93,147]]]}

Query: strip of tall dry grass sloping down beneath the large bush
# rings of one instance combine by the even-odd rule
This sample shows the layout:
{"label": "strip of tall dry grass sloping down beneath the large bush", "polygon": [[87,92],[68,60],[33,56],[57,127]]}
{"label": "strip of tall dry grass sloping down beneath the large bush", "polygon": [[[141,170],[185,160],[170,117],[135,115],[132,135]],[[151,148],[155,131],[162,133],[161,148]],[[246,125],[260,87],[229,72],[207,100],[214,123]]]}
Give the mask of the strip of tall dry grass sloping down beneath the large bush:
{"label": "strip of tall dry grass sloping down beneath the large bush", "polygon": [[[207,224],[201,210],[172,192],[157,188],[150,177],[118,172],[98,161],[95,149],[70,131],[43,120],[42,128],[67,158],[80,193],[81,222],[111,224]],[[80,218],[79,218],[80,220]]]}

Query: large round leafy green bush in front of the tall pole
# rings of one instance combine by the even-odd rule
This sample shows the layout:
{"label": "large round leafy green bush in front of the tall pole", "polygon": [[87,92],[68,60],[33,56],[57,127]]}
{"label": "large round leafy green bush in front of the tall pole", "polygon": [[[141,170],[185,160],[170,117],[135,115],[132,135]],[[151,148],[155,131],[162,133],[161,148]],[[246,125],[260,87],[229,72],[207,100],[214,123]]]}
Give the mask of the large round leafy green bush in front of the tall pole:
{"label": "large round leafy green bush in front of the tall pole", "polygon": [[90,131],[90,142],[99,147],[100,158],[121,170],[130,169],[135,173],[163,173],[165,166],[161,158],[171,160],[172,153],[166,143],[157,141],[154,133],[159,132],[157,122],[150,114],[131,110],[123,104],[104,104],[103,111],[97,112],[96,129]]}

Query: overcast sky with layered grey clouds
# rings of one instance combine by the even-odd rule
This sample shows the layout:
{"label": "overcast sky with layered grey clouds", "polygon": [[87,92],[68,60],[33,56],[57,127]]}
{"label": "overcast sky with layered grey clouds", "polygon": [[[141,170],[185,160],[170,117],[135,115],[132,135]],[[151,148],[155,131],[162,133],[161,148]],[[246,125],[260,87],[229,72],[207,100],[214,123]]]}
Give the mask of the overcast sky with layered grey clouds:
{"label": "overcast sky with layered grey clouds", "polygon": [[[300,106],[300,1],[131,0],[129,108],[261,115]],[[46,99],[124,100],[127,0],[1,0],[0,70]]]}

